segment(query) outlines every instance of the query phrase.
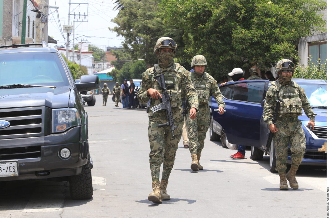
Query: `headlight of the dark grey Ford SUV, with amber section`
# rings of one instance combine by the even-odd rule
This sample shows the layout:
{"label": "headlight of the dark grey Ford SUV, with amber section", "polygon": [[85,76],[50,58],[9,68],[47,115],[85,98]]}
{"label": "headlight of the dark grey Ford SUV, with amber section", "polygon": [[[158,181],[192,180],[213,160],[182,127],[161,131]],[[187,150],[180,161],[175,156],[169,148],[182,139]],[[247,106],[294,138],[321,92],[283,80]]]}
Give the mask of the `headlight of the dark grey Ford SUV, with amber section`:
{"label": "headlight of the dark grey Ford SUV, with amber section", "polygon": [[53,109],[53,133],[63,132],[70,127],[81,125],[81,118],[76,108]]}

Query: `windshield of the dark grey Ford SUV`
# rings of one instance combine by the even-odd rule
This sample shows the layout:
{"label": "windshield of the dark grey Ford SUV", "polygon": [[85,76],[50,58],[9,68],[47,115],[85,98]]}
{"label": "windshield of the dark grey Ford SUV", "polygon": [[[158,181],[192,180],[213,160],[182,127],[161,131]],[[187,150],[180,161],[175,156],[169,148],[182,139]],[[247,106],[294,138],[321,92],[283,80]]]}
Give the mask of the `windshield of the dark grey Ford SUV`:
{"label": "windshield of the dark grey Ford SUV", "polygon": [[68,86],[65,69],[56,53],[19,52],[0,55],[0,86],[29,84]]}

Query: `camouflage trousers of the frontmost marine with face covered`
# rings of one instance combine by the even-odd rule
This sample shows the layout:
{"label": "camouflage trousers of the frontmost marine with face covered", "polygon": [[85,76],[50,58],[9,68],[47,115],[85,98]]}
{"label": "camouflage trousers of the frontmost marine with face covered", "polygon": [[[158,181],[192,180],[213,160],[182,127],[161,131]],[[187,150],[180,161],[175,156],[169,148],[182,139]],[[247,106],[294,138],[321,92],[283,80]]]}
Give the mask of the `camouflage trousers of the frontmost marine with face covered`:
{"label": "camouflage trousers of the frontmost marine with face covered", "polygon": [[149,163],[152,181],[159,181],[160,165],[163,164],[162,179],[168,180],[182,135],[183,117],[180,108],[172,108],[174,125],[177,128],[172,136],[170,127],[157,127],[168,122],[164,110],[155,112],[149,117],[148,135],[150,143]]}

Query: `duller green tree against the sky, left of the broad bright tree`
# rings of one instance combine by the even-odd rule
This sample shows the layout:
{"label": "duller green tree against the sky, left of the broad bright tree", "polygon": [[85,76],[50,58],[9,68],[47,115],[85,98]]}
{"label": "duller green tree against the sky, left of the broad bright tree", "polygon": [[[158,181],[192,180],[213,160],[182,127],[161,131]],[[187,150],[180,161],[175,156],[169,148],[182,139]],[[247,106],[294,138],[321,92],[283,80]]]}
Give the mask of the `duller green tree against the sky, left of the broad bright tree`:
{"label": "duller green tree against the sky, left of the broad bright tree", "polygon": [[[158,2],[150,0],[132,1],[120,0],[120,11],[112,19],[117,26],[109,28],[124,37],[123,48],[128,51],[132,59],[145,59],[148,67],[156,63],[153,48],[158,38],[165,36],[162,19],[158,16]],[[118,5],[119,6],[119,5]]]}

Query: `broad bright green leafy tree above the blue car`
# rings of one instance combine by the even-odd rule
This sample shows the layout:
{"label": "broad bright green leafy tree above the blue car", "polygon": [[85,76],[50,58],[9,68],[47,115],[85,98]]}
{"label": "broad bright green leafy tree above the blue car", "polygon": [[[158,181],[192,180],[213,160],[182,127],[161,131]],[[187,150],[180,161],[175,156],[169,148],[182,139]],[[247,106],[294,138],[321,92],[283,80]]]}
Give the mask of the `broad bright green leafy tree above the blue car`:
{"label": "broad bright green leafy tree above the blue car", "polygon": [[185,56],[204,55],[216,79],[235,67],[271,67],[283,58],[298,58],[298,39],[324,31],[315,0],[161,0],[160,16],[173,32],[183,30]]}

